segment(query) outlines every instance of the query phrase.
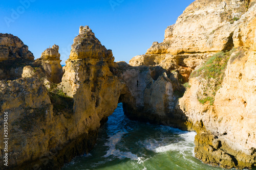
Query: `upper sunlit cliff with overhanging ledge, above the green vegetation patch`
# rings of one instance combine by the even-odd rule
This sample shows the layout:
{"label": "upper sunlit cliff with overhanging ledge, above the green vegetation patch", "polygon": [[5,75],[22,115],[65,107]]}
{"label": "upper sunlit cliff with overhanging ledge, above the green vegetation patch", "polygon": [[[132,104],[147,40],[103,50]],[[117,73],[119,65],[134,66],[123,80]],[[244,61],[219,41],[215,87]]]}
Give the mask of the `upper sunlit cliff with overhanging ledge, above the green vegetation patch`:
{"label": "upper sunlit cliff with overhanging ledge, above the green vegetation patch", "polygon": [[237,32],[240,25],[246,25],[248,18],[254,15],[254,8],[247,9],[248,3],[234,0],[195,1],[174,25],[167,27],[163,42],[153,42],[145,55],[134,57],[129,64],[176,70],[182,76],[183,83],[188,82],[190,73],[204,58],[219,51],[231,50],[234,44],[239,43],[237,37],[241,36]]}

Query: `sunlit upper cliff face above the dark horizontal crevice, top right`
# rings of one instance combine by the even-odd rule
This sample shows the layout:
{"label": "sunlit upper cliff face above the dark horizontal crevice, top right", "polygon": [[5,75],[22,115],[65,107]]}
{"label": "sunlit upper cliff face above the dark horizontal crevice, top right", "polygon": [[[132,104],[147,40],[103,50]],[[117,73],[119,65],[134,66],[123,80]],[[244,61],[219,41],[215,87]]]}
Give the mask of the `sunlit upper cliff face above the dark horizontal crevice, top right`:
{"label": "sunlit upper cliff face above the dark horizontal crevice, top right", "polygon": [[209,53],[232,48],[237,19],[246,12],[247,1],[195,1],[165,31],[162,43],[146,54]]}

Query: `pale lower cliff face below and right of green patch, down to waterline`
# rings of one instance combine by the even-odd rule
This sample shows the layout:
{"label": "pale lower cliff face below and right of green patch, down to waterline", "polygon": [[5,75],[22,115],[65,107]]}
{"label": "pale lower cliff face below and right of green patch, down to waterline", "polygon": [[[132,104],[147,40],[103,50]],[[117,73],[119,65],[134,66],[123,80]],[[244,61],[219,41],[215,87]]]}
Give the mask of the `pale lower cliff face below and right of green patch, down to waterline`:
{"label": "pale lower cliff face below and right of green patch, down to waterline", "polygon": [[[256,53],[248,51],[242,58],[237,54],[239,52],[234,52],[229,59],[225,78],[215,95],[214,105],[211,106],[209,102],[205,104],[199,102],[198,94],[202,93],[205,86],[205,81],[200,77],[189,80],[191,88],[178,103],[178,108],[182,110],[181,114],[185,114],[194,125],[201,122],[204,126],[205,129],[197,130],[198,135],[206,132],[208,135],[214,135],[222,143],[217,150],[231,155],[232,160],[236,160],[236,164],[233,164],[229,157],[218,158],[215,151],[203,150],[207,144],[213,144],[212,140],[210,143],[202,142],[201,140],[204,140],[202,136],[195,139],[198,140],[195,156],[205,163],[220,164],[225,168],[252,167],[256,162],[253,149],[256,146],[254,135]],[[238,58],[234,59],[234,57]]]}

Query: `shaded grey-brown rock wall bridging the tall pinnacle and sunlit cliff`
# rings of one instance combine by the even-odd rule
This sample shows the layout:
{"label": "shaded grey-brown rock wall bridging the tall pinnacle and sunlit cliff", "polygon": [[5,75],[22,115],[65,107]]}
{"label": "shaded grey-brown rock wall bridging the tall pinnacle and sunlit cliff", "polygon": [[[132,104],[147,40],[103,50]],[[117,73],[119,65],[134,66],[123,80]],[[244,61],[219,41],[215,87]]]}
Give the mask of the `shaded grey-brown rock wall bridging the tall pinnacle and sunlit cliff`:
{"label": "shaded grey-brown rock wall bridging the tall pinnacle and sunlit cliff", "polygon": [[178,82],[177,73],[166,75],[161,67],[133,67],[124,62],[118,65],[121,70],[119,77],[126,85],[119,99],[124,114],[143,122],[176,127],[175,101],[178,95],[174,91],[184,88]]}

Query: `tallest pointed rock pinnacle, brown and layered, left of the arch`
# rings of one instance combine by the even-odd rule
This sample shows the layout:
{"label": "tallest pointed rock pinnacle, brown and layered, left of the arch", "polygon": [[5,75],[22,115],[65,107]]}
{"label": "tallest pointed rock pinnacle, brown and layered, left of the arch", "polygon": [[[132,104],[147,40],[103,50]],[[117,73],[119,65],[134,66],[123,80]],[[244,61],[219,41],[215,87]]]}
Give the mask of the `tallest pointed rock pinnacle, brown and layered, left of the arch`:
{"label": "tallest pointed rock pinnacle, brown and layered, left of the arch", "polygon": [[98,130],[101,120],[117,107],[124,84],[111,72],[113,61],[111,50],[100,44],[88,26],[81,26],[61,82],[74,100],[76,134]]}

